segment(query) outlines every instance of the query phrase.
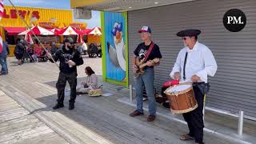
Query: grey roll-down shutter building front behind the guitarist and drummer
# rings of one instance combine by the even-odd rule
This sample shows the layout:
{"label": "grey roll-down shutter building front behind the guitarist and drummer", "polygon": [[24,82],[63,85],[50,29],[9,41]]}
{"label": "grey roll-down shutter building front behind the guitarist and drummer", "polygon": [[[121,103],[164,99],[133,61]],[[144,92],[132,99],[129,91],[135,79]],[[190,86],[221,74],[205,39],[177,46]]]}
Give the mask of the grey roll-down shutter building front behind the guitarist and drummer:
{"label": "grey roll-down shutter building front behind the guitarist and drummer", "polygon": [[[71,0],[71,6],[72,6]],[[119,3],[118,3],[119,2]],[[112,10],[127,13],[129,84],[134,84],[131,59],[141,41],[138,30],[150,26],[152,39],[162,52],[160,66],[155,67],[155,83],[158,91],[170,80],[170,71],[182,49],[182,39],[176,36],[179,30],[194,28],[202,30],[198,42],[212,50],[218,63],[218,71],[210,78],[210,93],[206,106],[238,113],[243,110],[248,118],[256,119],[256,2],[242,1],[171,1],[164,6],[153,6],[153,1],[142,3],[115,3],[101,1],[90,5],[93,10]],[[142,1],[141,1],[142,2]],[[153,2],[150,5],[150,2]],[[161,2],[167,1],[159,1]],[[78,3],[76,3],[78,4]],[[74,5],[75,6],[75,5]],[[112,6],[112,7],[111,7]],[[136,7],[138,6],[138,7]],[[140,7],[139,7],[140,6]],[[133,10],[136,7],[136,10]],[[243,30],[230,32],[223,25],[223,16],[230,9],[239,9],[246,14]]]}

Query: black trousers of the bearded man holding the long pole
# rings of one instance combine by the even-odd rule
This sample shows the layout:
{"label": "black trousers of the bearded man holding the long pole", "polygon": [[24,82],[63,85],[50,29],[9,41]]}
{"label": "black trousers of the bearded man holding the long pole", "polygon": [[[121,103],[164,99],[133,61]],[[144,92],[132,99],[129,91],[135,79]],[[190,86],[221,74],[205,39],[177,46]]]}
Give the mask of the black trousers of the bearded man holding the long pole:
{"label": "black trousers of the bearded man holding the long pole", "polygon": [[57,102],[59,104],[63,104],[64,101],[66,81],[70,84],[70,103],[75,102],[75,98],[77,97],[77,76],[78,74],[76,71],[70,74],[64,74],[62,72],[59,73],[58,82],[56,83],[56,88],[58,90]]}

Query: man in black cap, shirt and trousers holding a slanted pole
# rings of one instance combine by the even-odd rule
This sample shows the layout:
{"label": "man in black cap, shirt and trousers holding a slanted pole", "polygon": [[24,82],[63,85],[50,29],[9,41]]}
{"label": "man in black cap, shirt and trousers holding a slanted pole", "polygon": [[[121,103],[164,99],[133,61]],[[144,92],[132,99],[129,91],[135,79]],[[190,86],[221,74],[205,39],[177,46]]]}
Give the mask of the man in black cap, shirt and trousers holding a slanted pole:
{"label": "man in black cap, shirt and trousers holding a slanted pole", "polygon": [[[70,84],[70,106],[69,110],[74,109],[74,102],[76,98],[77,86],[77,66],[83,64],[82,57],[78,50],[74,48],[74,41],[72,38],[64,40],[64,46],[56,51],[54,55],[47,53],[50,62],[59,61],[59,76],[56,88],[58,90],[57,104],[53,107],[54,110],[64,106],[65,86],[66,81]],[[54,58],[54,61],[51,59]]]}

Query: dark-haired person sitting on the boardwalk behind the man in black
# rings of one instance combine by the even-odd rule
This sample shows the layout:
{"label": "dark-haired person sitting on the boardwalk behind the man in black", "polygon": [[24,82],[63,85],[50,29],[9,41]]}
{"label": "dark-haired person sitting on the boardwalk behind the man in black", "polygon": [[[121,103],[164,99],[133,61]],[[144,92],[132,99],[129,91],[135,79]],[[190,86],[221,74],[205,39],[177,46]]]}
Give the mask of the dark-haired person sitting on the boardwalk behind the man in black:
{"label": "dark-haired person sitting on the boardwalk behind the man in black", "polygon": [[86,94],[90,93],[90,91],[101,89],[101,85],[98,83],[98,77],[90,66],[86,66],[85,73],[88,76],[86,77],[86,81],[77,86],[77,94]]}

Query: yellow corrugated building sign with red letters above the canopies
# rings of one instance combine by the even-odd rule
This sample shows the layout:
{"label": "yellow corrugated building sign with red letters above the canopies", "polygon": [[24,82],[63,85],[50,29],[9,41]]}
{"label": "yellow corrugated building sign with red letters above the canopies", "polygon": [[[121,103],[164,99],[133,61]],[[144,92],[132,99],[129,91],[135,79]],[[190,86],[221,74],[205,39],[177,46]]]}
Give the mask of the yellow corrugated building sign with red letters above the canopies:
{"label": "yellow corrugated building sign with red letters above the canopies", "polygon": [[[16,7],[18,14],[26,20],[31,26],[44,25],[54,27],[64,27],[73,22],[71,10],[51,10],[32,7]],[[12,6],[5,6],[4,14],[0,22],[0,26],[6,27],[25,27],[26,24],[18,16],[16,10]]]}

